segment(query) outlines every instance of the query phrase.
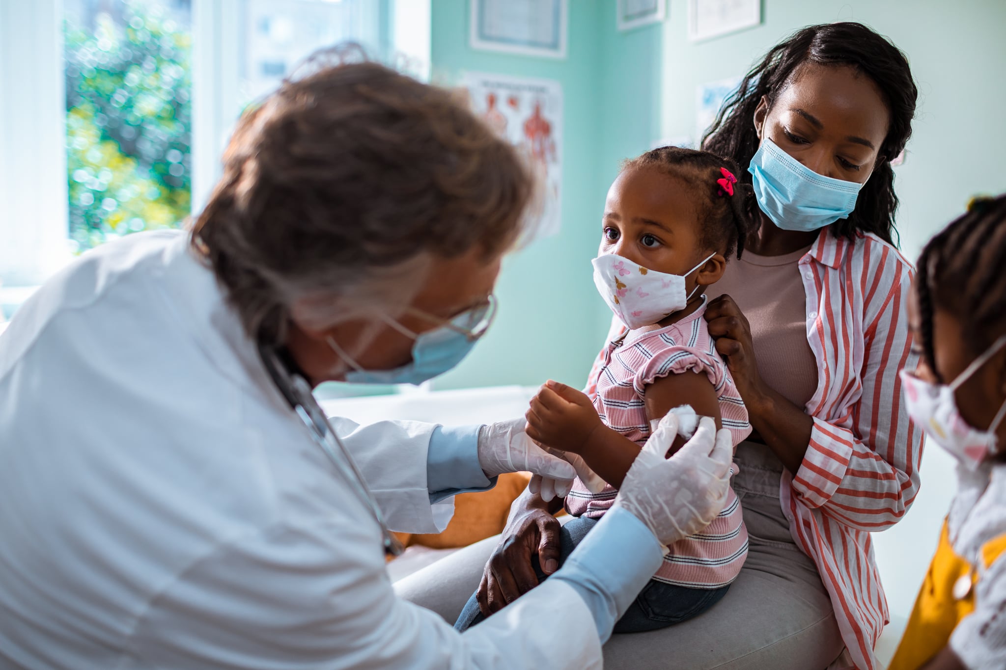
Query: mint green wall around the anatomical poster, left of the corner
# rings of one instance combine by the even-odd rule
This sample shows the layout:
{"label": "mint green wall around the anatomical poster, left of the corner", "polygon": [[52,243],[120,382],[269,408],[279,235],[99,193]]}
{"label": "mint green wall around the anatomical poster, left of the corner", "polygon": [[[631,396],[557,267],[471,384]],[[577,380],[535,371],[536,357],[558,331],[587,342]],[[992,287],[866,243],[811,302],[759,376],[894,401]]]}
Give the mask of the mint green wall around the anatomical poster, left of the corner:
{"label": "mint green wall around the anatomical poster, left of the corner", "polygon": [[[496,323],[472,355],[436,380],[438,389],[540,384],[582,385],[604,339],[600,297],[591,278],[601,207],[597,154],[601,135],[602,12],[607,3],[569,3],[563,60],[473,50],[468,0],[433,0],[433,79],[456,82],[466,70],[555,79],[562,84],[562,229],[504,261]],[[605,7],[607,9],[607,7]],[[602,15],[604,14],[604,16]],[[604,19],[604,21],[603,21]]]}

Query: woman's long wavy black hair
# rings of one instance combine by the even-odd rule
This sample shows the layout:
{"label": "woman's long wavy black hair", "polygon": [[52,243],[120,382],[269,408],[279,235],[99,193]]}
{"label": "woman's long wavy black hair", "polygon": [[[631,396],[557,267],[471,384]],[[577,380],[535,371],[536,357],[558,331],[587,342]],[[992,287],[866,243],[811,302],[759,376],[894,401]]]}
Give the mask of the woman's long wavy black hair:
{"label": "woman's long wavy black hair", "polygon": [[750,184],[747,166],[760,143],[754,131],[754,110],[763,97],[772,108],[804,63],[854,67],[876,83],[884,96],[890,126],[873,174],[859,192],[856,208],[847,219],[833,223],[831,229],[836,236],[850,239],[861,233],[875,233],[888,244],[894,244],[897,196],[890,162],[904,150],[911,137],[918,89],[904,54],[886,37],[862,23],[844,21],[808,26],[772,47],[723,103],[702,138],[702,149],[735,161],[743,169],[737,178]]}

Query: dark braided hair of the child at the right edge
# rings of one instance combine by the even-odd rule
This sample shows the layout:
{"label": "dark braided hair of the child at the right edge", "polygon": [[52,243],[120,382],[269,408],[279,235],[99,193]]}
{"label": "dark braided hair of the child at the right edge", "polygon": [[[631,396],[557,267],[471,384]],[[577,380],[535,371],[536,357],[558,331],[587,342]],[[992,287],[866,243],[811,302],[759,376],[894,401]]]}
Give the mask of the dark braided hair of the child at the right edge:
{"label": "dark braided hair of the child at the right edge", "polygon": [[923,349],[936,372],[933,311],[953,313],[977,354],[1006,330],[1006,195],[976,198],[918,257]]}

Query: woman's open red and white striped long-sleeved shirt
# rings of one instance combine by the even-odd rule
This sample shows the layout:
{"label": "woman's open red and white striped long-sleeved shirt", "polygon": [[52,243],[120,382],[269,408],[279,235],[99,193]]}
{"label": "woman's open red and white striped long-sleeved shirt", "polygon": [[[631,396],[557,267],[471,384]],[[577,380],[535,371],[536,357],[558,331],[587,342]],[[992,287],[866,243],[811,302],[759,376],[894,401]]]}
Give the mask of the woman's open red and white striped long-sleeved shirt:
{"label": "woman's open red and white striped long-sleeved shirt", "polygon": [[799,267],[818,388],[805,407],[814,418],[807,454],[796,476],[783,473],[780,497],[849,655],[857,668],[877,670],[873,645],[888,612],[870,532],[904,516],[923,457],[897,375],[916,363],[906,307],[913,270],[875,235],[849,241],[828,230]]}

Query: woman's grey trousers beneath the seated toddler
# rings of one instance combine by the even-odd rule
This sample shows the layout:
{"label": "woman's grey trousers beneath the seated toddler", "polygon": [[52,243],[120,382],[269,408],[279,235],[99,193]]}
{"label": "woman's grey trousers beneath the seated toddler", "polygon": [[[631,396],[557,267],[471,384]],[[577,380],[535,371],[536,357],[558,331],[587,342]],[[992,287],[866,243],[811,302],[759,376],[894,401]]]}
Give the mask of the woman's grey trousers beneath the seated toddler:
{"label": "woman's grey trousers beneath the seated toddler", "polygon": [[[688,621],[649,633],[613,635],[605,667],[661,670],[824,670],[844,645],[831,600],[811,559],[794,542],[779,503],[783,466],[765,445],[744,442],[733,490],[750,538],[747,561],[726,596]],[[395,583],[405,600],[454,624],[478,588],[490,537]]]}

